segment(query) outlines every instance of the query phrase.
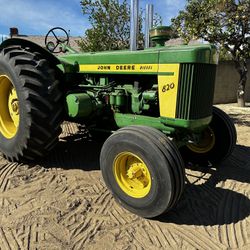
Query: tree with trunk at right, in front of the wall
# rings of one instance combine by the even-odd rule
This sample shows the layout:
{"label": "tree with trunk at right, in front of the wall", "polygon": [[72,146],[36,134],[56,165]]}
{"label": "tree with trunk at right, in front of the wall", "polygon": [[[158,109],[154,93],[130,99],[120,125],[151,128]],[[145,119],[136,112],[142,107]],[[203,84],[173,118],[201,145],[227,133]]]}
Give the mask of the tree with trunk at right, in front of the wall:
{"label": "tree with trunk at right, in front of the wall", "polygon": [[250,57],[250,0],[188,0],[172,19],[186,41],[203,38],[227,51],[239,73],[237,99],[245,106],[247,60]]}

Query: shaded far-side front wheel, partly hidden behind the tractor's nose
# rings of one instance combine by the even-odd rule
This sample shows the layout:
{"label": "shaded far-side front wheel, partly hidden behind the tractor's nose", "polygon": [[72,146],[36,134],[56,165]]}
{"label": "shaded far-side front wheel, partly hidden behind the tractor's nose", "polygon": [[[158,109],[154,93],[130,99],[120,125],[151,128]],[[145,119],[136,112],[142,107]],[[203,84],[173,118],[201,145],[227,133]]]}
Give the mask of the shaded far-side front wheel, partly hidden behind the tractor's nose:
{"label": "shaded far-side front wheel, partly hidden behind the tractor's nose", "polygon": [[203,132],[203,140],[182,147],[180,152],[187,163],[216,165],[231,155],[236,140],[236,129],[230,117],[224,111],[213,107],[213,119]]}

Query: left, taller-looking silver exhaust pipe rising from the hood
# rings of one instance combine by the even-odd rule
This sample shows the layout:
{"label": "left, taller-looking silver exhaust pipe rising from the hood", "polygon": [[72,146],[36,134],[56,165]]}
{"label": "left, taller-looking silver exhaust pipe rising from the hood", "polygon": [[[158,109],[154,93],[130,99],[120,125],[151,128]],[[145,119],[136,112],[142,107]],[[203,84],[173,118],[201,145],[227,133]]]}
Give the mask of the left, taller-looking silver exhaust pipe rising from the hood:
{"label": "left, taller-looking silver exhaust pipe rising from the hood", "polygon": [[137,34],[138,34],[138,16],[139,16],[139,0],[131,0],[130,6],[130,50],[137,50]]}

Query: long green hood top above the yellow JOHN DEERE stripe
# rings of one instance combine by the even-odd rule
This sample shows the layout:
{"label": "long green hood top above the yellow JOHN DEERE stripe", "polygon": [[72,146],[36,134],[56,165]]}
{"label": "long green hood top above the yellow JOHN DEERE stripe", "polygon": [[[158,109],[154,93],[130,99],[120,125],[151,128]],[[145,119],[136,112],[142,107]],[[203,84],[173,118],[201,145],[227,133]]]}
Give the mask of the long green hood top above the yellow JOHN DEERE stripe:
{"label": "long green hood top above the yellow JOHN DEERE stripe", "polygon": [[[96,53],[68,54],[60,56],[64,65],[111,65],[111,64],[168,64],[204,63],[216,64],[216,50],[212,45],[179,45],[151,48],[139,51],[106,51]],[[76,66],[75,66],[76,68]],[[84,71],[83,71],[84,72]],[[93,72],[96,73],[96,72]],[[158,72],[108,72],[109,74],[157,74]],[[164,73],[164,72],[159,72]],[[165,72],[169,73],[169,72]],[[170,72],[171,73],[171,72]],[[105,72],[100,72],[105,74]]]}

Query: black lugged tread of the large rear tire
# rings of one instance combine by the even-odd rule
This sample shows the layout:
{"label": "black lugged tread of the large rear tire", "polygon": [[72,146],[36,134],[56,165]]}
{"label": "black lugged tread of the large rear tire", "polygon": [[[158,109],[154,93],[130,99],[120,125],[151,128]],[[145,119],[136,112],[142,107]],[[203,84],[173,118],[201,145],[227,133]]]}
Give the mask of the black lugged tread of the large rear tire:
{"label": "black lugged tread of the large rear tire", "polygon": [[59,72],[54,65],[32,48],[9,46],[0,52],[13,69],[23,89],[27,113],[24,121],[27,135],[18,142],[15,152],[3,152],[13,161],[42,157],[55,145],[63,120],[62,91]]}

